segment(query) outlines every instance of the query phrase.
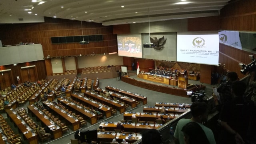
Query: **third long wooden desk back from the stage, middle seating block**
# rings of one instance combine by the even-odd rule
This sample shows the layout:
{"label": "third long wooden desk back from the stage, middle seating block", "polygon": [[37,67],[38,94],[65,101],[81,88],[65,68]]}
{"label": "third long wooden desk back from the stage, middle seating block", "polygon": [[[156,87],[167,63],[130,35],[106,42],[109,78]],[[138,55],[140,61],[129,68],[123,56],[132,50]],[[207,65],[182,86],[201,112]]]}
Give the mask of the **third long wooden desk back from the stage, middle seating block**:
{"label": "third long wooden desk back from the stage, middle seating block", "polygon": [[102,96],[98,96],[96,94],[91,94],[90,92],[85,92],[84,96],[87,96],[88,98],[91,98],[93,100],[96,100],[102,104],[105,104],[107,106],[111,105],[112,108],[120,110],[120,114],[125,112],[125,106],[122,104],[118,104],[116,102],[113,102],[112,100],[108,100],[106,98],[103,98]]}

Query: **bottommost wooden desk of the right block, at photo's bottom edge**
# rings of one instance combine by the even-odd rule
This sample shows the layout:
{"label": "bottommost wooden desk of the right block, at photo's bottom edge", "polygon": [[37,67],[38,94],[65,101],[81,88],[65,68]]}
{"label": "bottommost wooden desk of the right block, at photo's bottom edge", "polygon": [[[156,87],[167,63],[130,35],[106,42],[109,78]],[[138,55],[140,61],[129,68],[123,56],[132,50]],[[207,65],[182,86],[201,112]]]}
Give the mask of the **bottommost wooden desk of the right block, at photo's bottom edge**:
{"label": "bottommost wooden desk of the right block, at photo's bottom edge", "polygon": [[126,142],[128,142],[129,144],[131,144],[131,143],[136,142],[138,139],[141,138],[141,137],[138,138],[138,137],[133,137],[133,136],[132,136],[132,138],[126,139],[126,136],[128,136],[128,134],[125,135],[125,136],[123,136],[122,134],[119,134],[119,135],[117,135],[117,134],[112,135],[111,133],[110,133],[110,134],[106,134],[106,132],[104,132],[104,133],[105,133],[105,134],[100,134],[100,133],[98,133],[98,136],[97,136],[97,137],[98,137],[98,141],[100,141],[100,142],[112,142],[112,140],[113,140],[114,138],[116,138],[116,136],[118,136],[118,138],[116,138],[116,141],[117,141],[117,142],[121,143],[122,140],[125,139]]}

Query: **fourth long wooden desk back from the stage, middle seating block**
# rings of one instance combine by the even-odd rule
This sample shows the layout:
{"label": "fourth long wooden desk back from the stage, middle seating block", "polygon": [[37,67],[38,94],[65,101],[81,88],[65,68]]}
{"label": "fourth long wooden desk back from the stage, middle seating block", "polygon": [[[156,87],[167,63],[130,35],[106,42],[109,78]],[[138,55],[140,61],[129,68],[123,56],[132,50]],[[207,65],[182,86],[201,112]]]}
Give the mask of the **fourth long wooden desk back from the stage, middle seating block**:
{"label": "fourth long wooden desk back from the stage, middle seating block", "polygon": [[[89,104],[90,106],[93,106],[94,108],[98,108],[98,110],[100,112],[105,113],[106,118],[112,116],[112,112],[111,112],[112,110],[110,108],[101,107],[100,105],[90,101],[89,99],[87,99],[84,96],[78,96],[76,94],[71,94],[71,97],[72,97],[72,99],[74,99],[74,100],[76,100],[76,101],[78,101],[78,102],[80,102],[80,103],[82,103],[84,105],[88,105]],[[101,107],[101,108],[99,108],[99,107]]]}

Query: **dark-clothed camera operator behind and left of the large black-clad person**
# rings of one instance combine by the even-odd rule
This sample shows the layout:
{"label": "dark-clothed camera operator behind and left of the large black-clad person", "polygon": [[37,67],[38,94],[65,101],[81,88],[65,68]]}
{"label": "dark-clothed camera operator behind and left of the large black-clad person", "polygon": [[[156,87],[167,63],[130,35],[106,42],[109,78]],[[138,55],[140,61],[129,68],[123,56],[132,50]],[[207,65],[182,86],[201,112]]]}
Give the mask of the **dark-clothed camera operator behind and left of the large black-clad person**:
{"label": "dark-clothed camera operator behind and left of the large black-clad person", "polygon": [[222,82],[217,88],[217,92],[219,93],[220,97],[218,98],[216,94],[212,94],[214,98],[214,103],[216,105],[216,109],[220,112],[222,108],[222,104],[224,102],[232,100],[233,96],[231,94],[231,85],[232,82],[238,79],[238,75],[236,72],[228,72],[226,82]]}

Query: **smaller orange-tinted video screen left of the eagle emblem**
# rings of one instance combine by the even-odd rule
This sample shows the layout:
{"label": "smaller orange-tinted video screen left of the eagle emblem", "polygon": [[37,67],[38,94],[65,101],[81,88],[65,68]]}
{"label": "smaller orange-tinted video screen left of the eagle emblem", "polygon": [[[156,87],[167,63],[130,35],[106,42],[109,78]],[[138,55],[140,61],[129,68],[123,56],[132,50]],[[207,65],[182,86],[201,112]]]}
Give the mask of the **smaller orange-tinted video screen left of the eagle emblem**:
{"label": "smaller orange-tinted video screen left of the eagle emblem", "polygon": [[141,34],[118,35],[118,56],[142,58]]}

